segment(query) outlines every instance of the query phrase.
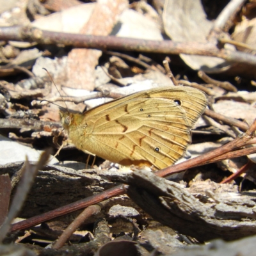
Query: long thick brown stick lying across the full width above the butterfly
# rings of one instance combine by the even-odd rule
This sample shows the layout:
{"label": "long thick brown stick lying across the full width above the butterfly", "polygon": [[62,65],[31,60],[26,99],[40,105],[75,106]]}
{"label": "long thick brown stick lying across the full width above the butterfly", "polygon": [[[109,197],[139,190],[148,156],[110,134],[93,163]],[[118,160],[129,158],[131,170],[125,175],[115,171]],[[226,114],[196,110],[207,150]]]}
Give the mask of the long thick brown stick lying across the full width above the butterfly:
{"label": "long thick brown stick lying across the full width above the butterfly", "polygon": [[163,54],[193,54],[200,56],[219,57],[236,63],[256,65],[256,58],[246,52],[234,52],[218,49],[211,42],[173,42],[172,40],[139,40],[116,36],[92,36],[72,33],[44,31],[31,27],[0,28],[0,40],[21,42],[37,42],[38,44],[62,44],[78,48],[116,49],[125,51],[154,52]]}

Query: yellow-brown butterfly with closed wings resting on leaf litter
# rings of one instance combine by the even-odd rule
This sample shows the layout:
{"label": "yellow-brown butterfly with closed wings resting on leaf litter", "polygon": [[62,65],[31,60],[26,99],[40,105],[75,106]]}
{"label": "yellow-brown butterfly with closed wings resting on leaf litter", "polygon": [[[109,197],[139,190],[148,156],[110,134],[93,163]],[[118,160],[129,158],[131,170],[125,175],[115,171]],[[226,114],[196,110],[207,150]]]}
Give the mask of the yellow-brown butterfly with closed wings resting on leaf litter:
{"label": "yellow-brown butterfly with closed wings resting on leaf litter", "polygon": [[80,150],[122,165],[161,169],[184,155],[206,105],[200,90],[173,86],[134,93],[83,114],[61,110],[60,116]]}

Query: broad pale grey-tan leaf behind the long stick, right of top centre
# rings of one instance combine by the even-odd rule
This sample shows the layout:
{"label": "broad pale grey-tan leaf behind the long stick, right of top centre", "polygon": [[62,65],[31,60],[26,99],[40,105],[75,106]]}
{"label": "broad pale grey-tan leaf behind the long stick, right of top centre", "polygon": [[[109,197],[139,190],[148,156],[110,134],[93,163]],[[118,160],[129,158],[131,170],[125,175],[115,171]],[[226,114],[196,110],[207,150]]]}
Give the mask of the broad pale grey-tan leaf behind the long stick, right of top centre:
{"label": "broad pale grey-tan leaf behind the long stick, right of top centre", "polygon": [[[202,3],[195,1],[166,0],[163,13],[164,30],[173,41],[207,43],[212,22],[207,20]],[[225,63],[221,58],[180,54],[182,60],[195,70],[219,70]]]}

